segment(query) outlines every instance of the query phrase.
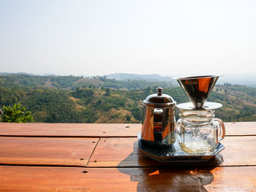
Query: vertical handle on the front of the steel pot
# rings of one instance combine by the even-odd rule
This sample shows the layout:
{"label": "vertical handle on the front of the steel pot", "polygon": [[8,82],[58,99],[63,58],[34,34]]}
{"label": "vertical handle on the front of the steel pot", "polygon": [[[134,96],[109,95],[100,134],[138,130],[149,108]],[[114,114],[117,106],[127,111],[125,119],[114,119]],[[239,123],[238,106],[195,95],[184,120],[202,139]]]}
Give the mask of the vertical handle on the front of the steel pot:
{"label": "vertical handle on the front of the steel pot", "polygon": [[162,109],[154,109],[154,141],[162,141]]}

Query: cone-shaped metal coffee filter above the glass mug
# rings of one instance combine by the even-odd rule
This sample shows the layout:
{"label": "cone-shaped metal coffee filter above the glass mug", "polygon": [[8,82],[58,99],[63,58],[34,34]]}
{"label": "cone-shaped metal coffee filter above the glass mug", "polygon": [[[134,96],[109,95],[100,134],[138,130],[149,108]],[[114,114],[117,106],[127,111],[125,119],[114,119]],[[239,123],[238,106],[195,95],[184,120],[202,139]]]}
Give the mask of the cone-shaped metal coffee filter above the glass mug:
{"label": "cone-shaped metal coffee filter above the glass mug", "polygon": [[214,88],[219,76],[197,76],[197,77],[181,77],[177,78],[181,88],[187,93],[190,101],[195,109],[203,108],[203,104]]}

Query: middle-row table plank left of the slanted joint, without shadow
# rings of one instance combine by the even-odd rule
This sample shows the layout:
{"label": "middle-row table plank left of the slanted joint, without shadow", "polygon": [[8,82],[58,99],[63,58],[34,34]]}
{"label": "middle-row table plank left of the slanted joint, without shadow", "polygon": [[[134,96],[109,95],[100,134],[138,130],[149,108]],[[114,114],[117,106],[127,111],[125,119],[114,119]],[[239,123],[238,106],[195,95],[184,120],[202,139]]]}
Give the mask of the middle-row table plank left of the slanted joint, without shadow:
{"label": "middle-row table plank left of the slanted joint, without shadow", "polygon": [[0,164],[86,166],[98,140],[0,137]]}

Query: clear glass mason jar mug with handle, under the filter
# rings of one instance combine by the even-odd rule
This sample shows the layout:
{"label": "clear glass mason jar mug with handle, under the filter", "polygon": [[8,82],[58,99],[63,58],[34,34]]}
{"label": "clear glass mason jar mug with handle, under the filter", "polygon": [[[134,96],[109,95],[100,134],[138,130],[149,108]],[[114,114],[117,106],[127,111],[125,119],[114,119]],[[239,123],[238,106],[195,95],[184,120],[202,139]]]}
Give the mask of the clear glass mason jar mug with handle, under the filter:
{"label": "clear glass mason jar mug with handle, under the filter", "polygon": [[208,153],[225,137],[222,120],[214,118],[214,110],[181,110],[176,125],[176,139],[187,153]]}

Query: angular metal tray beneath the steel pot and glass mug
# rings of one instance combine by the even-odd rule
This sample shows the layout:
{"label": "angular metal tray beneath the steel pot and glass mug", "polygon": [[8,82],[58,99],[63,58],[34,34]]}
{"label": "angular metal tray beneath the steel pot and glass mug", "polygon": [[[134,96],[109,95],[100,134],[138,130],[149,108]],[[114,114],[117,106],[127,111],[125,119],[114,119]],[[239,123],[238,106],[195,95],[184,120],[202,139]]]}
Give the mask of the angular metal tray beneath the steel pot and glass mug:
{"label": "angular metal tray beneath the steel pot and glass mug", "polygon": [[218,147],[208,153],[186,153],[181,150],[178,142],[174,142],[173,145],[168,147],[150,146],[146,145],[138,133],[138,147],[148,157],[154,158],[157,161],[162,162],[196,162],[196,161],[210,161],[219,152],[225,149],[224,145],[219,142]]}

